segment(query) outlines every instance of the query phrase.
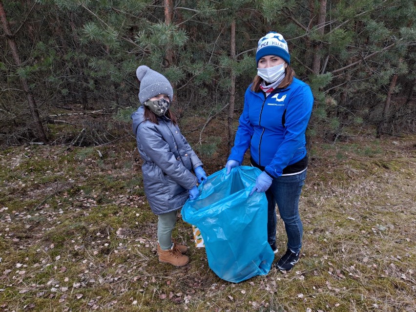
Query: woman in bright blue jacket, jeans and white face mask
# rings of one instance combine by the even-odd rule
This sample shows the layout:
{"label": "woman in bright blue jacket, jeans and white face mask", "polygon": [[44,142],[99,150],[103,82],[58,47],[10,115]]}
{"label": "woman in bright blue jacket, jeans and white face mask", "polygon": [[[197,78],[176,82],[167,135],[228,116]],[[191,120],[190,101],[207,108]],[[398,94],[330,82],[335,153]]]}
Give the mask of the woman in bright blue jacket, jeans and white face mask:
{"label": "woman in bright blue jacket, jeans and white face mask", "polygon": [[275,266],[291,270],[299,261],[302,247],[299,197],[308,166],[305,131],[313,96],[309,85],[294,77],[288,44],[281,34],[270,32],[259,40],[256,62],[257,76],[244,96],[227,174],[242,164],[250,147],[251,165],[262,170],[250,195],[266,192],[268,242],[275,253],[277,204],[288,243],[286,253]]}

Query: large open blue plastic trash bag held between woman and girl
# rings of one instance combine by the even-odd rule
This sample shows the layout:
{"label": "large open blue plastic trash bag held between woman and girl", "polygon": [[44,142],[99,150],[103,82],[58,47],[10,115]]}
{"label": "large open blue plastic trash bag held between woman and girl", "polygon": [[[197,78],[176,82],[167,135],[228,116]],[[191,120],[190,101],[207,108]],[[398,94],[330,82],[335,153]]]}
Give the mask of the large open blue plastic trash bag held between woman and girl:
{"label": "large open blue plastic trash bag held between woman and girl", "polygon": [[201,230],[208,265],[222,279],[238,283],[269,273],[274,253],[267,242],[266,194],[250,195],[260,169],[239,166],[208,176],[201,195],[182,208],[184,221]]}

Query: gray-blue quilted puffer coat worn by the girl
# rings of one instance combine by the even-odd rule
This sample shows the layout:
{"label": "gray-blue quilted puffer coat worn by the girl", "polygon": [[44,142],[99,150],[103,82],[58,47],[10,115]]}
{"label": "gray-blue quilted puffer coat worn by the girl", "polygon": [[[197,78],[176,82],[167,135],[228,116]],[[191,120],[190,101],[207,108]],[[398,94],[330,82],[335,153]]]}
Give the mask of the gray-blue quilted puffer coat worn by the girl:
{"label": "gray-blue quilted puffer coat worn by the girl", "polygon": [[143,185],[154,214],[181,208],[189,197],[189,189],[197,178],[191,170],[202,166],[177,125],[159,117],[159,125],[144,118],[140,106],[131,115],[137,148],[143,159]]}

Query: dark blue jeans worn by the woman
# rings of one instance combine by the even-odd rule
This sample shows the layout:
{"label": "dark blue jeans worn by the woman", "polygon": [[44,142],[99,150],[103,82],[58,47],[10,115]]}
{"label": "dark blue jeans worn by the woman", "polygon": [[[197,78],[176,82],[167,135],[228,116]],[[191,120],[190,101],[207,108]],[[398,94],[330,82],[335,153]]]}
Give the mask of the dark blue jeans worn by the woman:
{"label": "dark blue jeans worn by the woman", "polygon": [[266,191],[268,202],[267,240],[276,242],[276,204],[285,223],[288,248],[298,253],[302,247],[303,226],[299,216],[299,197],[305,184],[306,170],[302,173],[273,178]]}

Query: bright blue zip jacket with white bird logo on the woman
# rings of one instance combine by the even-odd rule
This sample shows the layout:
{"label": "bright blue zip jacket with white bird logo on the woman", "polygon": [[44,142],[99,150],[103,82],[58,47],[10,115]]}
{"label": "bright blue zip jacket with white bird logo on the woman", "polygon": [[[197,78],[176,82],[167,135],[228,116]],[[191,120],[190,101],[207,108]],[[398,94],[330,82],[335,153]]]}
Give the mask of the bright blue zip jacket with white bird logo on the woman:
{"label": "bright blue zip jacket with white bird logo on the woman", "polygon": [[250,146],[251,158],[272,176],[306,156],[305,131],[312,113],[313,96],[308,84],[293,78],[285,89],[266,98],[251,85],[244,96],[234,146],[229,160],[243,161]]}

